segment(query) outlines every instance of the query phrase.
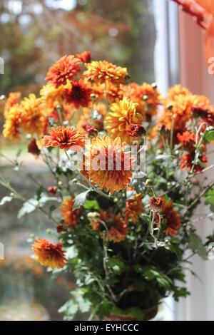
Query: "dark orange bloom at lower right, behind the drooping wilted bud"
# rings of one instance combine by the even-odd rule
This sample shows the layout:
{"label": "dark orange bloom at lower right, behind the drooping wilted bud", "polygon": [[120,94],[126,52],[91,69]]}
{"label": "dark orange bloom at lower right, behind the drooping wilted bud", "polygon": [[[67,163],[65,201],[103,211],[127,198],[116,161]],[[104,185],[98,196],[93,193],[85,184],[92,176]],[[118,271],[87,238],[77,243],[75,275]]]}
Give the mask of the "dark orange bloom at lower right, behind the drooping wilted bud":
{"label": "dark orange bloom at lower right, behind the drooping wilted bud", "polygon": [[[174,236],[180,228],[180,215],[176,210],[173,210],[173,200],[167,202],[163,199],[161,212],[163,214],[163,220],[166,220],[167,224],[165,230],[166,234]],[[158,225],[158,215],[156,215],[156,224]]]}

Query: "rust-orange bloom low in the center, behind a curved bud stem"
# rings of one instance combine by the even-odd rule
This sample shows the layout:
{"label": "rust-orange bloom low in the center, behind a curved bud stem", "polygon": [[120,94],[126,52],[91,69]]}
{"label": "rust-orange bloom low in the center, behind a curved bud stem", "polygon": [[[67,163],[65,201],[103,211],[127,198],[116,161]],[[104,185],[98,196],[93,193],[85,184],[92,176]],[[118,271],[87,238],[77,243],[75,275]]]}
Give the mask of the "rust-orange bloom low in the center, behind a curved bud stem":
{"label": "rust-orange bloom low in the center, behind a curved bud stem", "polygon": [[[101,210],[99,214],[100,217],[92,218],[90,223],[91,229],[101,230],[102,238],[103,232],[105,232],[105,238],[110,242],[118,243],[123,241],[123,239],[125,239],[126,235],[128,234],[128,224],[121,219],[120,214],[118,213],[118,215],[115,215],[113,214],[112,210],[108,213]],[[102,221],[106,223],[106,227],[108,228],[108,236]]]}

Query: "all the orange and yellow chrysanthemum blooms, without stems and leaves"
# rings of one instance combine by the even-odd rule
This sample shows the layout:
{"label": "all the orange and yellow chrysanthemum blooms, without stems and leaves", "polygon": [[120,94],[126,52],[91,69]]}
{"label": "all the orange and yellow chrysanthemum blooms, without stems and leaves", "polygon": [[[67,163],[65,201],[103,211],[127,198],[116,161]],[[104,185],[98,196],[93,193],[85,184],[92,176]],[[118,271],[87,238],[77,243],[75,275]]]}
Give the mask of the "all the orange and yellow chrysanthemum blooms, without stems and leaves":
{"label": "all the orange and yellow chrysanthemum blooms, without stems and leaves", "polygon": [[[33,138],[29,143],[29,152],[37,156],[41,147],[75,152],[85,148],[85,140],[92,138],[90,149],[85,148],[85,161],[79,175],[93,191],[109,198],[115,192],[125,192],[126,200],[116,211],[91,212],[88,215],[91,230],[98,231],[100,237],[109,242],[121,242],[126,239],[129,227],[136,225],[142,213],[148,210],[154,215],[156,227],[160,225],[160,217],[165,222],[163,234],[177,234],[180,216],[173,207],[173,200],[153,196],[150,206],[145,209],[144,195],[136,192],[133,186],[128,191],[133,177],[133,160],[128,160],[128,168],[125,160],[129,153],[127,145],[141,145],[146,133],[151,143],[158,139],[161,148],[170,146],[171,140],[171,144],[180,150],[181,170],[202,170],[207,162],[205,144],[200,148],[200,163],[194,163],[197,141],[200,140],[195,134],[195,126],[203,132],[206,125],[213,125],[214,108],[210,101],[179,85],[170,88],[167,98],[163,98],[155,84],[128,83],[126,68],[108,61],[91,61],[88,52],[63,56],[49,69],[46,81],[39,98],[30,94],[29,98],[20,101],[20,93],[9,95],[5,106],[4,136],[19,139],[21,130],[37,135],[38,142]],[[156,120],[153,129],[148,127],[151,120]],[[97,170],[91,162],[101,153],[104,153],[106,166]],[[120,170],[116,168],[115,159],[112,168],[108,169],[109,153],[113,158],[120,155]],[[49,192],[55,195],[57,186],[49,187]],[[128,192],[131,196],[127,197]],[[57,227],[58,233],[75,230],[80,224],[83,207],[73,210],[74,202],[74,195],[63,199],[60,207],[63,220]],[[67,262],[62,244],[38,239],[33,249],[36,259],[45,266],[54,269]]]}

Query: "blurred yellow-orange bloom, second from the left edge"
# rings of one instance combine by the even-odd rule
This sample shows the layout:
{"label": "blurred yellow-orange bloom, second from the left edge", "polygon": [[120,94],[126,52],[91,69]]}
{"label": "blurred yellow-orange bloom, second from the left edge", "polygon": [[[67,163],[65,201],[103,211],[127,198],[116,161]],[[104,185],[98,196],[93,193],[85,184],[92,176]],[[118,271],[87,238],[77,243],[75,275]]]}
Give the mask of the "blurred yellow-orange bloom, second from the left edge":
{"label": "blurred yellow-orange bloom, second from the left edge", "polygon": [[22,127],[31,135],[44,133],[45,118],[41,108],[41,99],[36,98],[35,94],[30,94],[29,98],[21,101],[23,110]]}

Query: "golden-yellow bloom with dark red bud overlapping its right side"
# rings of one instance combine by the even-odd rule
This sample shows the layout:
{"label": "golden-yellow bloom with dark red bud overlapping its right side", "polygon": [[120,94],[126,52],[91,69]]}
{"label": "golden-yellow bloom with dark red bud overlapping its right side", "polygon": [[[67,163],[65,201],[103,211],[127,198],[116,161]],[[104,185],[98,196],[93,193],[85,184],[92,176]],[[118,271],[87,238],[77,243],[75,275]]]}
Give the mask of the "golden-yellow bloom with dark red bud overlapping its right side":
{"label": "golden-yellow bloom with dark red bud overlapping its right side", "polygon": [[110,105],[111,112],[108,113],[105,120],[106,130],[113,138],[119,136],[121,140],[128,144],[132,144],[133,140],[138,140],[128,135],[127,130],[133,123],[141,124],[143,117],[136,112],[138,103],[128,100],[124,97],[123,100],[116,99],[116,103]]}

